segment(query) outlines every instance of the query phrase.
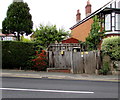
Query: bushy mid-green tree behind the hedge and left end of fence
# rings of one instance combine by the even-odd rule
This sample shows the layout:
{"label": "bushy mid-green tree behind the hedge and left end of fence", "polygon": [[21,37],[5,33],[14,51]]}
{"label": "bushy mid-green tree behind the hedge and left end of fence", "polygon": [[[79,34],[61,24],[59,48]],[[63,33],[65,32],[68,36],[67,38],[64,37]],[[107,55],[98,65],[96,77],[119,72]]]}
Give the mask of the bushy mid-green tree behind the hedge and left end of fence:
{"label": "bushy mid-green tree behind the hedge and left end of fence", "polygon": [[64,29],[57,30],[56,25],[41,25],[34,32],[34,41],[42,48],[47,48],[48,45],[55,42],[61,42],[68,36],[68,31]]}

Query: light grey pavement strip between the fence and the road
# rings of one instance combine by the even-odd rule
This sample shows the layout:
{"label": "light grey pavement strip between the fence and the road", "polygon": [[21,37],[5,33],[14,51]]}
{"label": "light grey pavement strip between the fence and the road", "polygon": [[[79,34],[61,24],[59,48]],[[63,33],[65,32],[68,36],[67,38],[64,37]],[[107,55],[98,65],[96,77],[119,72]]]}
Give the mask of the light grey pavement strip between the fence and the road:
{"label": "light grey pavement strip between the fence and the road", "polygon": [[120,82],[120,78],[118,77],[118,75],[88,75],[88,74],[72,74],[72,73],[60,73],[60,72],[36,72],[36,71],[24,71],[24,70],[0,70],[0,76]]}

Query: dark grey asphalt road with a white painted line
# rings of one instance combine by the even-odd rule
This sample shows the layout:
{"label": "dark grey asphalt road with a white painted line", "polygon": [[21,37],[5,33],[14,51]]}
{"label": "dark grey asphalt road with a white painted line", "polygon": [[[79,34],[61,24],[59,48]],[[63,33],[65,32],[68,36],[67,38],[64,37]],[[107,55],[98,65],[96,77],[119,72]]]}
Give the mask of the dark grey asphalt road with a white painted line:
{"label": "dark grey asphalt road with a white painted line", "polygon": [[2,78],[3,98],[118,98],[117,82]]}

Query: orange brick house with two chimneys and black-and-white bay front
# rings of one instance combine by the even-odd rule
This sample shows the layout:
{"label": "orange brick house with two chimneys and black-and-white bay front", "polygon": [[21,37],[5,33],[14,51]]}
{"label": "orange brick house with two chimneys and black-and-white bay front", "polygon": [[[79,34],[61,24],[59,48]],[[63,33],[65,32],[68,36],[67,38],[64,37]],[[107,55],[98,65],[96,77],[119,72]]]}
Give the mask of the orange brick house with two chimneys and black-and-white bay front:
{"label": "orange brick house with two chimneys and black-and-white bay front", "polygon": [[105,29],[105,34],[109,36],[120,36],[120,0],[112,0],[106,5],[91,13],[92,5],[90,1],[87,1],[85,7],[86,17],[81,20],[81,13],[77,10],[76,24],[71,29],[71,37],[78,39],[79,41],[86,41],[86,37],[89,36],[91,25],[93,23],[93,17],[99,16],[100,19],[104,19],[101,22],[101,29]]}

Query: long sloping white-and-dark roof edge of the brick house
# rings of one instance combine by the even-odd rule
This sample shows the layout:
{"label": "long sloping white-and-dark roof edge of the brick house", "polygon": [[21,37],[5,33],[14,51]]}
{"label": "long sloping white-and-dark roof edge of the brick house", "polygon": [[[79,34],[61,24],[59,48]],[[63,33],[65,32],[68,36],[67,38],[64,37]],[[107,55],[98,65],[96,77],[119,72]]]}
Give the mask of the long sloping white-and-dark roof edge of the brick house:
{"label": "long sloping white-and-dark roof edge of the brick house", "polygon": [[[113,2],[115,2],[117,0],[111,0],[110,2],[108,2],[107,4],[105,4],[103,7],[101,7],[100,9],[96,10],[95,12],[91,13],[89,16],[87,16],[86,18],[84,18],[83,20],[79,21],[77,24],[75,24],[74,26],[72,26],[70,29],[74,29],[75,27],[77,27],[78,25],[84,23],[85,21],[89,20],[90,18],[92,18],[93,16],[97,15],[98,13],[100,13],[103,10],[107,10],[107,9],[113,9],[113,8],[108,8],[107,6],[112,4]],[[119,9],[120,10],[120,9]]]}

